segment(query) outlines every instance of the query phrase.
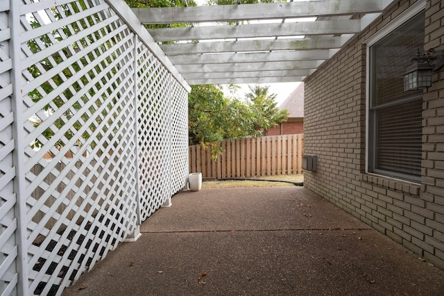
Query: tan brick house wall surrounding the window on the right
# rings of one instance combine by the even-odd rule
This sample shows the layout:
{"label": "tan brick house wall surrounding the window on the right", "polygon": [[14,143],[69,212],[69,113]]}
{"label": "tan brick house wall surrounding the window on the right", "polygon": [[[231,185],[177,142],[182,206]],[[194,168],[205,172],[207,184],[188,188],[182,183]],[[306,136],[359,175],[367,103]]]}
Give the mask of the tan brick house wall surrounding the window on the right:
{"label": "tan brick house wall surrounding the window on the right", "polygon": [[[422,184],[365,173],[364,40],[414,2],[390,6],[305,80],[305,154],[318,156],[318,171],[305,171],[304,184],[444,269],[444,72],[424,95]],[[442,48],[444,1],[426,10],[425,49]]]}

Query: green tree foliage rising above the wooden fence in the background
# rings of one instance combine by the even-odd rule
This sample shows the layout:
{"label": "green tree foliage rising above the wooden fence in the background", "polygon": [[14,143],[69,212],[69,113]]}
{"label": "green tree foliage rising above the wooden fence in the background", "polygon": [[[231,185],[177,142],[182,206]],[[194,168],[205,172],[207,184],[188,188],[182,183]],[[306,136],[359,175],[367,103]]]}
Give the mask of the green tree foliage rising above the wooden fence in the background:
{"label": "green tree foliage rising above the wooden fence in the background", "polygon": [[287,120],[276,94],[268,86],[250,87],[246,100],[228,99],[217,85],[193,85],[189,94],[189,142],[210,148],[213,159],[222,151],[219,142],[261,136],[264,130]]}

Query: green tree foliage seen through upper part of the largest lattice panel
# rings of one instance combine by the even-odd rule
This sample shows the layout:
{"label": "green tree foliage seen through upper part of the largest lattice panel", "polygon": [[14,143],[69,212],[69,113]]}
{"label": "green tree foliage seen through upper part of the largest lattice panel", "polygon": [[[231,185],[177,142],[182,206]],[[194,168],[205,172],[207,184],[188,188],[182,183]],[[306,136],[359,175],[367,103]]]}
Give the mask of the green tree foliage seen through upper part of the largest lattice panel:
{"label": "green tree foliage seen through upper part of the largest lattice panel", "polygon": [[[86,10],[87,5],[86,5],[85,1],[80,0],[76,3],[62,4],[60,6],[60,8],[61,8],[61,10],[56,10],[56,9],[50,10],[50,12],[53,14],[53,17],[55,19],[62,19],[63,17],[68,17],[70,15],[73,15],[73,13],[79,13],[81,10]],[[95,19],[93,19],[93,17]],[[26,44],[32,54],[37,54],[39,51],[42,50],[42,48],[44,49],[47,47],[51,47],[53,42],[59,42],[59,41],[63,40],[64,39],[63,36],[65,36],[65,38],[68,38],[72,35],[75,35],[76,33],[80,32],[81,30],[83,30],[85,28],[89,28],[90,26],[93,26],[98,21],[99,21],[99,16],[97,16],[97,15],[87,17],[85,19],[80,19],[80,20],[78,20],[78,22],[74,22],[74,23],[70,24],[70,26],[62,26],[58,30],[51,31],[48,34],[40,36],[40,38],[38,40],[37,39],[28,40],[28,42],[26,42]],[[39,28],[40,26],[42,26],[42,24],[37,22],[34,17],[31,17],[29,22],[30,22],[30,25],[32,28]],[[41,76],[42,74],[49,72],[51,69],[53,69],[53,67],[60,65],[67,58],[74,56],[76,51],[80,50],[82,47],[87,47],[87,44],[96,42],[96,40],[99,40],[101,38],[101,35],[106,35],[111,30],[112,30],[112,28],[110,28],[110,26],[106,26],[105,28],[101,28],[100,31],[92,33],[92,35],[88,35],[85,38],[81,38],[80,40],[78,40],[78,42],[74,42],[73,44],[71,44],[71,47],[72,47],[71,49],[69,47],[65,47],[65,48],[61,49],[60,51],[52,54],[51,56],[48,56],[48,57],[40,60],[39,63],[36,63],[35,65],[31,65],[30,67],[28,67],[28,73],[31,74],[33,79],[36,79],[37,77]],[[51,37],[52,37],[52,39],[51,39]],[[116,40],[116,38],[111,38],[110,40],[108,40],[106,42],[106,44],[101,44],[101,49],[103,51],[105,51],[105,47],[107,47],[107,46],[111,47],[110,44],[115,44],[117,42],[118,42],[118,40]],[[96,56],[100,56],[101,51],[96,50],[95,54],[96,54]],[[116,52],[110,54],[110,56],[108,56],[106,58],[106,61],[108,63],[111,63],[112,60],[114,60],[115,58],[117,58],[117,56],[119,56],[119,54],[120,54],[120,51],[118,49]],[[51,114],[55,110],[62,108],[62,106],[64,104],[67,104],[67,101],[69,99],[71,99],[78,92],[80,92],[80,90],[82,90],[82,88],[83,88],[83,85],[87,85],[87,83],[89,83],[89,81],[94,79],[94,76],[96,76],[95,73],[101,72],[101,68],[99,66],[96,66],[95,67],[96,72],[89,70],[89,72],[87,72],[84,76],[81,76],[78,81],[75,81],[74,83],[72,83],[72,85],[69,88],[66,88],[63,86],[65,81],[67,81],[68,79],[73,77],[77,72],[80,71],[80,69],[83,69],[83,67],[87,66],[94,59],[95,59],[95,56],[93,53],[87,54],[87,58],[85,58],[85,57],[80,58],[80,60],[78,60],[76,63],[73,63],[73,64],[69,65],[69,67],[62,69],[62,72],[60,74],[51,77],[51,79],[49,79],[47,81],[44,81],[44,83],[42,83],[39,88],[31,90],[31,92],[28,92],[28,97],[30,97],[30,99],[33,102],[37,102],[37,101],[40,101],[44,97],[45,94],[49,94],[50,92],[53,92],[53,90],[55,90],[56,88],[64,88],[64,90],[62,91],[62,94],[56,96],[53,99],[53,101],[51,101],[49,104],[47,104],[46,106],[44,106],[42,108],[42,111],[44,111],[44,114],[46,114],[45,115],[46,117],[51,116]],[[115,73],[117,71],[117,69],[112,69],[112,71],[113,71],[113,73]],[[119,82],[120,82],[119,79],[117,79],[116,83],[119,83]],[[95,91],[92,89],[90,89],[88,92],[91,97],[95,94]],[[83,96],[80,96],[79,98],[81,99],[81,101],[83,101],[83,104],[85,104],[89,99],[85,94]],[[96,102],[96,106],[100,106],[100,104],[101,104],[100,101]],[[78,110],[80,110],[80,108],[81,108],[80,101],[75,101],[74,103],[72,103],[71,108],[67,108],[67,110],[65,110],[65,112],[63,113],[62,116],[56,118],[53,121],[53,126],[56,129],[48,128],[42,132],[42,135],[44,136],[44,138],[46,138],[46,139],[52,138],[53,135],[55,135],[56,131],[60,130],[62,128],[62,126],[64,126],[69,120],[71,120],[71,118],[74,116],[74,114],[77,113]],[[89,108],[89,112],[91,112],[91,113],[94,113],[94,110],[95,110],[94,106]],[[43,118],[41,118],[41,117],[43,117]],[[87,113],[83,113],[83,115],[81,115],[81,119],[83,120],[83,122],[86,122],[88,120],[88,118],[89,118],[89,115]],[[33,117],[33,120],[35,120],[34,126],[37,127],[40,124],[42,124],[42,122],[45,120],[45,117],[42,115],[40,115],[40,117],[37,117],[37,115],[35,115]],[[96,124],[100,124],[100,122],[101,122],[100,119],[96,120]],[[73,127],[74,127],[74,130],[68,129],[65,132],[64,138],[66,140],[70,140],[71,138],[73,138],[74,133],[76,133],[76,131],[78,131],[82,127],[82,124],[79,121],[76,121],[76,122],[74,122]],[[82,137],[84,139],[89,138],[89,133],[93,132],[94,130],[95,130],[95,126],[94,126],[94,124],[92,124],[91,126],[89,126],[89,130],[83,132]],[[42,145],[43,144],[39,139],[35,139],[35,141],[33,142],[33,145],[31,145],[31,147],[42,147]],[[63,138],[60,138],[56,142],[56,146],[58,146],[58,147],[61,147],[64,145],[65,145],[65,142],[64,142]]]}

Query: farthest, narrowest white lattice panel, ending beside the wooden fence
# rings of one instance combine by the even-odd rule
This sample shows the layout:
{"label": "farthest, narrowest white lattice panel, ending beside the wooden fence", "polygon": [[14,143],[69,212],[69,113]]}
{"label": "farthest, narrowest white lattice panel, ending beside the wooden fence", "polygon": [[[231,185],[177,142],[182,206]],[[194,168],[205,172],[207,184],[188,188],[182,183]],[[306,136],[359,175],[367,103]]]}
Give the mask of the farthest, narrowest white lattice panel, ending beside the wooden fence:
{"label": "farthest, narrowest white lattice panel, ending beside the wooden fence", "polygon": [[188,92],[171,79],[171,195],[185,187],[188,177]]}

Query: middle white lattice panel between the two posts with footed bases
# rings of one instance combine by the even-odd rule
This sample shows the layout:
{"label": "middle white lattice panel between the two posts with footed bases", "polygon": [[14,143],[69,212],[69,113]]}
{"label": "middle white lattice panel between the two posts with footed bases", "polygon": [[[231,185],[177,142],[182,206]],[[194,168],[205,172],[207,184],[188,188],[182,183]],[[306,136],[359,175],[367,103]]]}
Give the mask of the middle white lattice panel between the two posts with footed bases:
{"label": "middle white lattice panel between the two posts with footed bases", "polygon": [[142,221],[171,197],[170,76],[142,43],[137,47],[139,198]]}

